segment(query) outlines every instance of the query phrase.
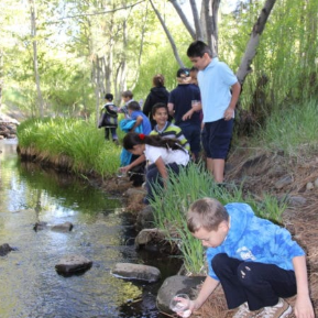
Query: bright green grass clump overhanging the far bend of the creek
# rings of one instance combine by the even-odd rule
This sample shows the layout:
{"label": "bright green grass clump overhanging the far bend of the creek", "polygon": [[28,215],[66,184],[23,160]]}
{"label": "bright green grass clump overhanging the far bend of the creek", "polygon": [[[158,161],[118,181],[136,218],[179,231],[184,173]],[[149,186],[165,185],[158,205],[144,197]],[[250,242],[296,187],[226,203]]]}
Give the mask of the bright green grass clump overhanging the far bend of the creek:
{"label": "bright green grass clump overhanging the far bend of the creek", "polygon": [[18,129],[20,147],[32,147],[43,160],[68,156],[75,173],[95,172],[110,176],[119,167],[121,147],[103,138],[94,121],[78,119],[36,119]]}

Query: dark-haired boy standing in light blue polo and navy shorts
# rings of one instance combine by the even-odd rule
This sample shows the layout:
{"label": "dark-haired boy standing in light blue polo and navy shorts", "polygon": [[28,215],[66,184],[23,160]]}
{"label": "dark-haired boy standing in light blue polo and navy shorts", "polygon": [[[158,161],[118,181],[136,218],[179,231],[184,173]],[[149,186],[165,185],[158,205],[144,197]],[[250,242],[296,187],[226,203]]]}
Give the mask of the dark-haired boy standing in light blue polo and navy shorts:
{"label": "dark-haired boy standing in light blue polo and navy shorts", "polygon": [[201,105],[190,109],[184,116],[184,120],[202,109],[205,123],[202,144],[207,155],[207,167],[215,180],[222,183],[241,85],[227,64],[212,57],[210,47],[204,42],[193,42],[187,50],[187,55],[199,69]]}

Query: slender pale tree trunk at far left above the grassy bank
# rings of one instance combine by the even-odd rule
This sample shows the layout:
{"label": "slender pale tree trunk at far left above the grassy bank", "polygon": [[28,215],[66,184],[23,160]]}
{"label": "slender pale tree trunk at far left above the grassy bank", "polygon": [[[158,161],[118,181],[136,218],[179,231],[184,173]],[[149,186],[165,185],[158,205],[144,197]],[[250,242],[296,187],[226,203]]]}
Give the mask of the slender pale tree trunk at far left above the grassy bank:
{"label": "slender pale tree trunk at far left above the grassy bank", "polygon": [[44,100],[42,97],[41,85],[40,85],[40,74],[39,74],[39,62],[37,62],[37,43],[36,43],[36,21],[35,21],[35,1],[29,0],[30,11],[31,11],[31,36],[33,37],[33,67],[34,67],[34,77],[37,91],[37,102],[39,102],[39,112],[40,117],[43,118]]}

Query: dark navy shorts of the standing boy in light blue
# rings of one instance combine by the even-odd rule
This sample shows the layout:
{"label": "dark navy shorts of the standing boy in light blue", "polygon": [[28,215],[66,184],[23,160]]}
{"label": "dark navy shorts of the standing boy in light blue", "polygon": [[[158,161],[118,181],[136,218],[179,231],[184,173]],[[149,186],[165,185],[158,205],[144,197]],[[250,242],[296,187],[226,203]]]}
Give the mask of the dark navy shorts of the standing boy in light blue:
{"label": "dark navy shorts of the standing boy in light blue", "polygon": [[202,131],[202,145],[208,158],[226,160],[232,139],[234,120],[220,119],[206,122]]}

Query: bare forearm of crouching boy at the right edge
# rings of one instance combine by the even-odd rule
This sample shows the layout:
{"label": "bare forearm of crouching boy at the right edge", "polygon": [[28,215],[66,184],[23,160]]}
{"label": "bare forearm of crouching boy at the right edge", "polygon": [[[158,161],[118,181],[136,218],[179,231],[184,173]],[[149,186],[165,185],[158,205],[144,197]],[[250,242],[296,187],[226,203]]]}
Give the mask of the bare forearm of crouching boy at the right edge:
{"label": "bare forearm of crouching boy at the right edge", "polygon": [[297,298],[295,304],[295,315],[297,318],[314,318],[314,308],[309,297],[308,275],[306,257],[296,256],[293,259],[296,275]]}

